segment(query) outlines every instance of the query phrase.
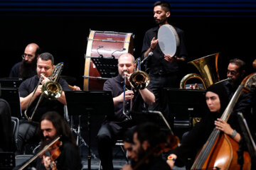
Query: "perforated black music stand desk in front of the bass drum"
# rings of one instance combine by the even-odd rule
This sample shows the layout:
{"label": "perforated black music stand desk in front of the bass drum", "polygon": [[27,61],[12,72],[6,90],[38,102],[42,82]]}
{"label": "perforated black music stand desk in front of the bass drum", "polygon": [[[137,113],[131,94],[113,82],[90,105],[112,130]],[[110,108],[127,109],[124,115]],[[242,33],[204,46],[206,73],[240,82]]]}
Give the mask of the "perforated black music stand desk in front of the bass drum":
{"label": "perforated black music stand desk in front of the bass drum", "polygon": [[91,57],[101,77],[112,78],[117,76],[118,61],[114,57]]}

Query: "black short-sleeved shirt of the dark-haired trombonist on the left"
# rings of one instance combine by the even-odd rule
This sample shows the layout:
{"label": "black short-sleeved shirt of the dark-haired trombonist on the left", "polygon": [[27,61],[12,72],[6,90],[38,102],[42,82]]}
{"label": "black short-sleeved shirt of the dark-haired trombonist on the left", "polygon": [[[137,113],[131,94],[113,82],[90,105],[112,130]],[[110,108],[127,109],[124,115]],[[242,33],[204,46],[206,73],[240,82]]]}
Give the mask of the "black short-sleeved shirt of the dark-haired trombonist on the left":
{"label": "black short-sleeved shirt of the dark-haired trombonist on the left", "polygon": [[[36,88],[38,81],[39,78],[37,75],[23,81],[18,88],[20,97],[24,98],[31,94]],[[58,80],[58,83],[60,84],[60,86],[62,86],[63,91],[70,91],[70,87],[68,86],[67,81],[60,78]],[[38,103],[39,97],[40,96],[37,96],[31,106],[29,106],[27,112],[28,116],[31,116],[31,114],[33,113],[33,110],[36,107],[36,103]],[[40,120],[41,116],[47,111],[57,111],[58,113],[63,114],[63,107],[63,103],[60,103],[58,100],[50,101],[49,99],[43,97],[38,105],[35,115],[33,116],[33,121]]]}

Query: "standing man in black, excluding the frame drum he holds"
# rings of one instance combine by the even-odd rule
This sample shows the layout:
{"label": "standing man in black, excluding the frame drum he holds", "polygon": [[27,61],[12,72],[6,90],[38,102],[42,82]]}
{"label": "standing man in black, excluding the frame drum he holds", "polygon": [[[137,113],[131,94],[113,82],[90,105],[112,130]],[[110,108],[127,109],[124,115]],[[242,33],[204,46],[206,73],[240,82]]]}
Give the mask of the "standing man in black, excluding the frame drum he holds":
{"label": "standing man in black, excluding the frame drum he holds", "polygon": [[159,47],[157,34],[161,26],[169,24],[170,10],[171,6],[167,1],[157,1],[154,4],[154,20],[157,26],[146,31],[142,46],[142,58],[149,55],[149,52],[153,52],[153,55],[148,58],[146,66],[149,69],[150,83],[156,96],[156,103],[149,107],[149,110],[162,112],[166,110],[162,89],[164,87],[178,87],[178,77],[181,76],[178,74],[181,73],[181,66],[187,57],[184,33],[179,28],[174,27],[180,40],[176,55],[164,55]]}

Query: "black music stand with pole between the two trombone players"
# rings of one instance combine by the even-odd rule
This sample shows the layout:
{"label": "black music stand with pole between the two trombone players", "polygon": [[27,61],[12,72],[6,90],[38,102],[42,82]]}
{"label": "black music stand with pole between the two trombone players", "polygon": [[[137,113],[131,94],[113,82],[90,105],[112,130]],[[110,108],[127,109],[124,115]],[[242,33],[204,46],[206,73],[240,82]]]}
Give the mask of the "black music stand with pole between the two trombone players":
{"label": "black music stand with pole between the two trombone players", "polygon": [[114,115],[111,91],[65,91],[69,115],[87,115],[88,125],[88,169],[91,169],[90,115]]}

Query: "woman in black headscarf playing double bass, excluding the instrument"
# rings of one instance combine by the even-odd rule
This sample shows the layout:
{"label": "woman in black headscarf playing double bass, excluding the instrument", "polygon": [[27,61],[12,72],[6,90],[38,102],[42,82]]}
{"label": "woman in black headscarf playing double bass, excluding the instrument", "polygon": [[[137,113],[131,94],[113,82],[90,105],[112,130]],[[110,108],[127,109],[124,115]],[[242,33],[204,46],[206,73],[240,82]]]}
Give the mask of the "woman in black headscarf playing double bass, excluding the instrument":
{"label": "woman in black headscarf playing double bass, excluding the instrument", "polygon": [[228,105],[228,101],[227,91],[225,91],[225,88],[221,84],[213,84],[207,89],[206,103],[209,111],[202,118],[201,122],[197,123],[183,137],[181,146],[172,151],[173,154],[170,154],[169,160],[167,160],[171,167],[174,166],[174,163],[176,166],[187,164],[188,158],[192,158],[193,160],[198,150],[206,143],[214,128],[229,135],[236,142],[240,141],[240,128],[236,122],[235,115],[230,115],[228,123],[220,119],[220,116]]}

